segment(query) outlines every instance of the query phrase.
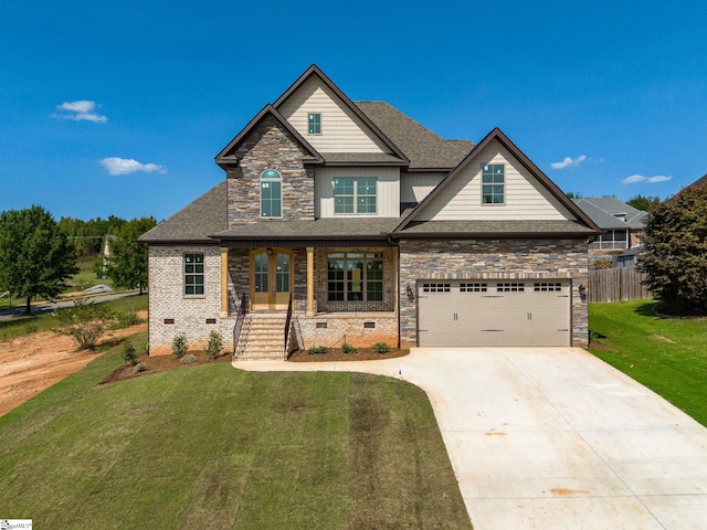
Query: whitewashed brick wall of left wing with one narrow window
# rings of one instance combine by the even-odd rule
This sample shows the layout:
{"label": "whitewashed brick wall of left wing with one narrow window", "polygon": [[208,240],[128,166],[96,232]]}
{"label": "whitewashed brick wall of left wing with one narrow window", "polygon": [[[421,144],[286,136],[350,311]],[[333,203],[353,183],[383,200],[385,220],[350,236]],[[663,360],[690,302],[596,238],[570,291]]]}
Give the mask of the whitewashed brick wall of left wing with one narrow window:
{"label": "whitewashed brick wall of left wing with one narrow window", "polygon": [[[183,256],[204,255],[204,295],[184,295]],[[221,250],[218,246],[150,246],[149,264],[149,350],[150,354],[171,353],[171,343],[186,333],[190,347],[200,348],[217,330],[225,351],[233,351],[234,318],[221,318]],[[166,320],[173,324],[166,324]],[[209,324],[213,321],[213,324]]]}

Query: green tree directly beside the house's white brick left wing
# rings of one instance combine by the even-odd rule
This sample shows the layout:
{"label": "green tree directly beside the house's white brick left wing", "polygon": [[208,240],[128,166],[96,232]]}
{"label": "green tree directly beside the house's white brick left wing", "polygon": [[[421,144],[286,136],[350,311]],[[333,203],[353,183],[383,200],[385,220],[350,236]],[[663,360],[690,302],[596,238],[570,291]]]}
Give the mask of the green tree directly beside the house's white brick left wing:
{"label": "green tree directly beside the house's white brick left wing", "polygon": [[137,239],[155,225],[155,218],[141,218],[128,221],[118,230],[105,264],[105,274],[116,287],[137,287],[143,294],[147,286],[147,248]]}

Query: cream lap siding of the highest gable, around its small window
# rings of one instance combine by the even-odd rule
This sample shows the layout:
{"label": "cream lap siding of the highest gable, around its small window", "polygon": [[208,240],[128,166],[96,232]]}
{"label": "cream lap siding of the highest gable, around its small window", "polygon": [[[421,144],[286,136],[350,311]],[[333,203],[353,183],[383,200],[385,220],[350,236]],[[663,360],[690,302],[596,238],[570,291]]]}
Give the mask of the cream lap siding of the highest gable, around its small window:
{"label": "cream lap siding of the highest gable, around its small window", "polygon": [[[384,144],[334,94],[313,76],[278,108],[319,152],[388,152]],[[308,114],[321,115],[321,134],[310,135]]]}

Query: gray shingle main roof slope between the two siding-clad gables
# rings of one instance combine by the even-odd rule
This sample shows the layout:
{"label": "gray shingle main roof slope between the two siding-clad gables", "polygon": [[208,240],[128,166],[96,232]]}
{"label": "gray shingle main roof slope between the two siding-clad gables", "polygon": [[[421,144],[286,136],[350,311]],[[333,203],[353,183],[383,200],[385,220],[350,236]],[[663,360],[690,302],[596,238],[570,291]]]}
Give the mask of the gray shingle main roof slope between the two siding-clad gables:
{"label": "gray shingle main roof slope between the two siding-clad gables", "polygon": [[474,144],[445,140],[386,102],[356,102],[356,105],[410,159],[410,169],[454,168]]}

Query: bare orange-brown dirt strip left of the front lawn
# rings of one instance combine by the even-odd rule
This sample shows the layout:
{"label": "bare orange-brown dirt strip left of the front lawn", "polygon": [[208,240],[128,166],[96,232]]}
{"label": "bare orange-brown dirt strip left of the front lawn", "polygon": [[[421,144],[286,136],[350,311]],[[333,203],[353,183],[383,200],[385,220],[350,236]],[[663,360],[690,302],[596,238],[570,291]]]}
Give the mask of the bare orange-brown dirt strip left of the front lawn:
{"label": "bare orange-brown dirt strip left of the front lawn", "polygon": [[[144,312],[144,314],[143,314]],[[146,318],[147,311],[139,311]],[[98,346],[147,330],[147,324],[108,331]],[[40,331],[0,342],[0,416],[43,390],[83,369],[98,353],[76,351],[75,342],[53,331]]]}

